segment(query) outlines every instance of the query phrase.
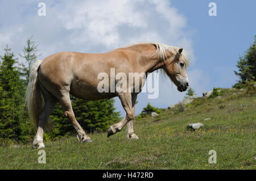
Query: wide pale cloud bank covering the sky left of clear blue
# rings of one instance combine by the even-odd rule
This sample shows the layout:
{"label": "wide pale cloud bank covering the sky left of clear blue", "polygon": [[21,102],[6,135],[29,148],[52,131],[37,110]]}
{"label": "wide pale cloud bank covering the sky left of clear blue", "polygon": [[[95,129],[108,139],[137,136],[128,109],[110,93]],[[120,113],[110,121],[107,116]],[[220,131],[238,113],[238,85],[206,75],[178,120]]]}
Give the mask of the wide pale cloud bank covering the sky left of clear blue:
{"label": "wide pale cloud bank covering the sky left of clear blue", "polygon": [[[60,51],[106,52],[137,42],[155,41],[187,49],[193,63],[191,34],[185,31],[187,18],[170,1],[44,2],[46,16],[38,16],[39,7],[35,1],[0,3],[0,15],[5,15],[0,22],[1,54],[6,43],[15,54],[21,53],[30,36],[39,44],[40,59]],[[189,74],[191,81],[204,77],[200,70]],[[202,85],[204,83],[207,82]],[[162,79],[159,85],[162,87],[159,99],[149,100],[141,95],[139,110],[146,102],[163,107],[178,102],[184,95],[177,92],[168,78]]]}

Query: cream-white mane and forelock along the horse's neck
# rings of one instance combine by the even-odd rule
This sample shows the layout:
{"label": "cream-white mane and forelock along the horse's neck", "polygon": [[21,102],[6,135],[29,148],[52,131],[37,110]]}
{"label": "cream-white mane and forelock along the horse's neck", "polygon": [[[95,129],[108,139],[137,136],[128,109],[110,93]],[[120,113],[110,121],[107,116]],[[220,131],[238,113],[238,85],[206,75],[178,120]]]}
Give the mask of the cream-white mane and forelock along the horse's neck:
{"label": "cream-white mane and forelock along the horse's neck", "polygon": [[[177,53],[179,53],[179,49],[180,49],[179,47],[168,46],[168,45],[164,45],[161,43],[152,43],[152,42],[150,42],[150,43],[135,43],[135,44],[129,45],[128,47],[132,47],[134,45],[154,45],[156,47],[155,54],[158,54],[160,61],[164,61],[168,58],[167,53],[166,53],[167,51],[171,52],[172,54],[177,54]],[[125,47],[125,48],[128,48],[128,47]],[[186,67],[189,66],[188,52],[183,49],[181,52],[181,56],[182,56],[183,61],[185,62],[185,66]]]}

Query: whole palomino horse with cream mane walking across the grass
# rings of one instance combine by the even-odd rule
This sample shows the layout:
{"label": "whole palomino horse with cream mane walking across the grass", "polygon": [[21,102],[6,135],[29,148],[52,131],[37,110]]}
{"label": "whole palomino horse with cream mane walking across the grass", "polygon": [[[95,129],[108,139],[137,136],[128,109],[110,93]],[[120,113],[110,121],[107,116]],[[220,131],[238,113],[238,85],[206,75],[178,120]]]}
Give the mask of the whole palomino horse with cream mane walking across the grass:
{"label": "whole palomino horse with cream mane walking across the grass", "polygon": [[[187,90],[188,78],[186,67],[189,64],[187,54],[182,48],[159,43],[138,43],[125,48],[118,48],[108,53],[60,52],[52,54],[43,61],[36,61],[31,68],[30,80],[26,92],[26,102],[30,119],[35,122],[38,131],[33,141],[34,148],[44,148],[44,129],[51,129],[49,115],[57,101],[61,103],[65,116],[75,127],[77,138],[81,142],[92,142],[81,128],[72,110],[69,95],[86,100],[109,99],[115,96],[121,100],[126,111],[125,118],[110,126],[108,137],[122,130],[127,124],[126,137],[138,139],[133,130],[134,108],[139,92],[106,91],[99,92],[98,74],[110,76],[110,69],[115,73],[151,73],[163,69],[180,92]],[[129,76],[127,76],[129,77]],[[113,80],[113,79],[112,79]],[[114,78],[114,83],[117,83]],[[139,85],[142,90],[142,81]],[[110,86],[108,86],[110,89]]]}

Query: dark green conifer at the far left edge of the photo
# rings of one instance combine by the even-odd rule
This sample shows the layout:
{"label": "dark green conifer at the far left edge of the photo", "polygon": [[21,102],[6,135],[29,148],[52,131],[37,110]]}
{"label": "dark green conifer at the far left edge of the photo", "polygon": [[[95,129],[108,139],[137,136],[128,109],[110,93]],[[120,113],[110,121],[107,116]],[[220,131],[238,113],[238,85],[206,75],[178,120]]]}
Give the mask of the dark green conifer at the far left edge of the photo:
{"label": "dark green conifer at the far left edge of the photo", "polygon": [[14,54],[10,53],[6,45],[5,54],[1,56],[0,65],[0,139],[19,140],[22,132],[20,127],[23,99],[20,91],[23,90],[19,71],[15,67]]}

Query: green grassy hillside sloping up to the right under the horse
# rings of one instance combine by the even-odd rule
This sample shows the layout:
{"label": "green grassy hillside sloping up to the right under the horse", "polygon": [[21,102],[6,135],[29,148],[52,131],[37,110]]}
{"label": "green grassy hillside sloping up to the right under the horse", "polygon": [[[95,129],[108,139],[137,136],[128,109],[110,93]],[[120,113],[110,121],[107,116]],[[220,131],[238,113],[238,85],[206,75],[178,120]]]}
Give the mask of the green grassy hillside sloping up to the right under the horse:
{"label": "green grassy hillside sloping up to the right under the horse", "polygon": [[[89,144],[76,137],[44,141],[46,164],[38,163],[30,144],[2,146],[0,169],[256,169],[255,87],[220,94],[197,98],[185,111],[177,105],[159,117],[135,120],[139,140],[126,140],[125,128],[109,138],[90,134]],[[199,122],[205,125],[199,131],[186,129]],[[216,164],[208,163],[209,150],[216,150]]]}

